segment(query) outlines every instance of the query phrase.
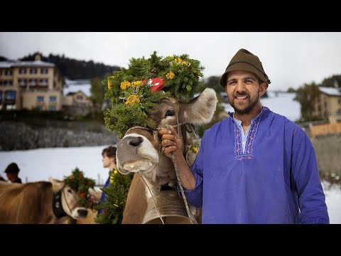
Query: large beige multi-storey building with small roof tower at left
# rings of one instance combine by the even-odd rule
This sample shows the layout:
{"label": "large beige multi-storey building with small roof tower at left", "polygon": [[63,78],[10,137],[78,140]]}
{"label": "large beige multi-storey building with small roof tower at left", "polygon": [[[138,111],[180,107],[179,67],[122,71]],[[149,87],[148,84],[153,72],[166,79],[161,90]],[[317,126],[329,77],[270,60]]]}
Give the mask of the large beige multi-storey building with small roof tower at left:
{"label": "large beige multi-storey building with small roof tower at left", "polygon": [[41,60],[0,62],[0,110],[62,110],[64,78]]}

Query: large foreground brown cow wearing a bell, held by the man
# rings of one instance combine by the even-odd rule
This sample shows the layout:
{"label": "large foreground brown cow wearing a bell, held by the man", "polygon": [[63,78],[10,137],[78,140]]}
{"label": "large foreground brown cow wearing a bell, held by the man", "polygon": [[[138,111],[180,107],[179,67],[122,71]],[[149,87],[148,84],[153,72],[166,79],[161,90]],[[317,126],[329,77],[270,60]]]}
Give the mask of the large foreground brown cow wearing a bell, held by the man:
{"label": "large foreground brown cow wearing a bell, held by the man", "polygon": [[[210,122],[216,106],[215,91],[207,88],[189,103],[174,98],[161,100],[150,117],[158,129],[168,124],[177,126],[186,145],[190,142],[185,124]],[[175,189],[173,161],[162,154],[161,139],[153,131],[131,127],[126,132],[117,144],[117,169],[121,174],[137,173],[129,188],[122,223],[189,223]]]}

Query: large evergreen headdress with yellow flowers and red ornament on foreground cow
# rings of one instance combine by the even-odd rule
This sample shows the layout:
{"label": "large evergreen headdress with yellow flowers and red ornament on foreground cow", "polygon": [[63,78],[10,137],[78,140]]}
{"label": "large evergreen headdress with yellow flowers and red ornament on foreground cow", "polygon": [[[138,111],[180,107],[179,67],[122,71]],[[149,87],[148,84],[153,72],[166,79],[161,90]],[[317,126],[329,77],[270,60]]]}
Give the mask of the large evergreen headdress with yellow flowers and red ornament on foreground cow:
{"label": "large evergreen headdress with yellow flowers and red ornament on foreground cow", "polygon": [[104,111],[107,128],[122,138],[131,127],[153,128],[148,118],[157,102],[175,97],[189,102],[200,80],[204,67],[187,54],[162,58],[153,52],[150,58],[131,58],[129,68],[114,71],[102,84],[107,87],[105,97],[112,100],[112,110]]}

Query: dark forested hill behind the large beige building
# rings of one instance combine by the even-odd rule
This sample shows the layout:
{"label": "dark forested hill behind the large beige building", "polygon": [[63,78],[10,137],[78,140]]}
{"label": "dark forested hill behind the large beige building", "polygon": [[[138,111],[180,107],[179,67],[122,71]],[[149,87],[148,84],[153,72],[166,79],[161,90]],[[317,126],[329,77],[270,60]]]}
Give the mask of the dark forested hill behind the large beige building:
{"label": "dark forested hill behind the large beige building", "polygon": [[[21,58],[21,61],[34,60],[36,53],[27,55]],[[75,60],[66,58],[64,55],[50,54],[48,57],[42,55],[41,60],[57,65],[60,73],[70,80],[75,79],[92,79],[104,78],[107,73],[112,73],[113,70],[120,70],[118,66],[104,65],[103,63],[94,63],[92,60]]]}

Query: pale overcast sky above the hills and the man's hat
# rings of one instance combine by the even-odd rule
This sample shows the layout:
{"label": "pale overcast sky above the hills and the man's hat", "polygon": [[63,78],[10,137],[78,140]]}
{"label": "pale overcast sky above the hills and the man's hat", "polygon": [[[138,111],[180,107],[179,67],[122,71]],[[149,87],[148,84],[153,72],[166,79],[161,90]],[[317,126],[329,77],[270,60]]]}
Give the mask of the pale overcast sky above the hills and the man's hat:
{"label": "pale overcast sky above the hills and the man's hat", "polygon": [[129,59],[153,53],[187,53],[205,66],[205,78],[224,73],[239,48],[258,55],[271,80],[269,89],[287,90],[341,75],[341,33],[258,32],[1,32],[0,55],[43,55],[93,60],[127,67]]}

